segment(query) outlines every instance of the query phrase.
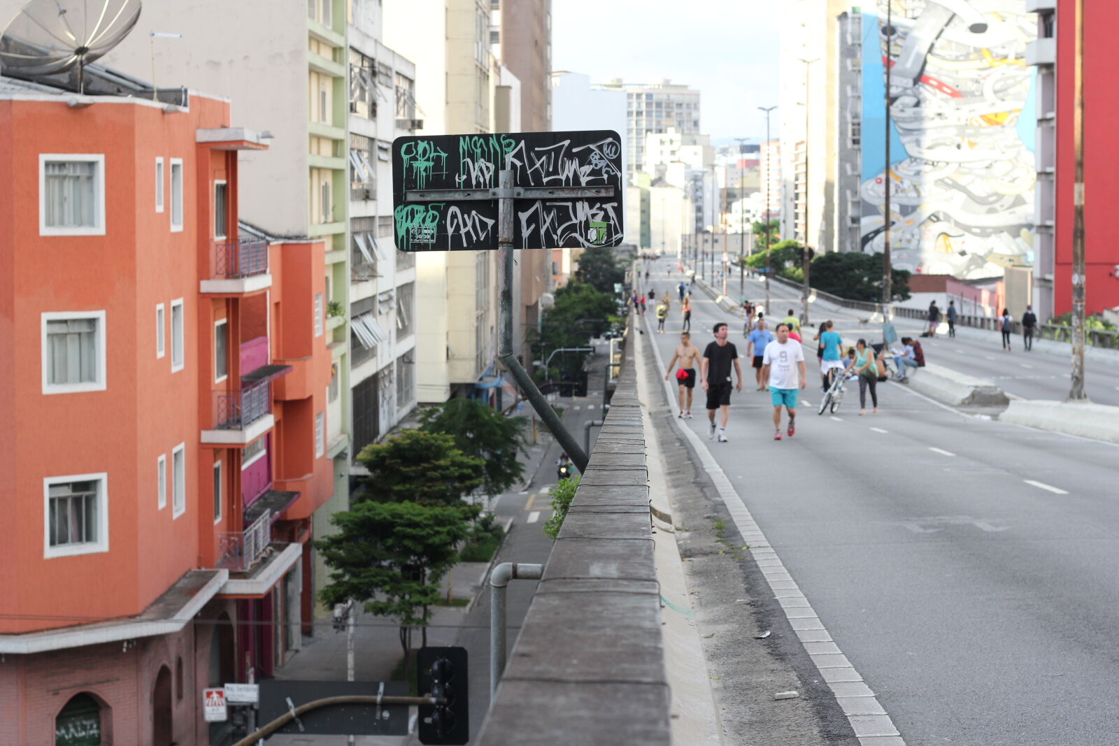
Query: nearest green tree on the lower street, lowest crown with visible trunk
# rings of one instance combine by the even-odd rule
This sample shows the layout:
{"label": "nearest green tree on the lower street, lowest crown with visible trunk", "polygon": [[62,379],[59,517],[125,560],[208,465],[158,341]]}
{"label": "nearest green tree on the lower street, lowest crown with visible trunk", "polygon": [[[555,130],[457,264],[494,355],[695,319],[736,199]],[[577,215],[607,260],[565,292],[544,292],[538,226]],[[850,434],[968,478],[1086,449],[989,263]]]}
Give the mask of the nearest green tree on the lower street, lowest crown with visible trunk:
{"label": "nearest green tree on the lower street, lowest crown with visible trunk", "polygon": [[412,627],[423,629],[426,645],[430,607],[467,537],[466,516],[449,506],[366,500],[330,521],[338,532],[314,542],[332,570],[319,597],[327,605],[352,598],[375,616],[396,620],[407,680]]}

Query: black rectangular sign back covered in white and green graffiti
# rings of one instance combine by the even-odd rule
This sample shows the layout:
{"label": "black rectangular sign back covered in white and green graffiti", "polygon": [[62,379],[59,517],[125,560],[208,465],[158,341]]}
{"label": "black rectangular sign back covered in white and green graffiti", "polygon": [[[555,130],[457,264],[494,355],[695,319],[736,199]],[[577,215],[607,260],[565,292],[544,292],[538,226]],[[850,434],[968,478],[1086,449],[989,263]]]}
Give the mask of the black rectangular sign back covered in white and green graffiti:
{"label": "black rectangular sign back covered in white and green graffiti", "polygon": [[[621,138],[610,130],[397,138],[393,218],[402,252],[498,247],[513,200],[514,248],[619,246]],[[511,189],[499,187],[511,171]]]}

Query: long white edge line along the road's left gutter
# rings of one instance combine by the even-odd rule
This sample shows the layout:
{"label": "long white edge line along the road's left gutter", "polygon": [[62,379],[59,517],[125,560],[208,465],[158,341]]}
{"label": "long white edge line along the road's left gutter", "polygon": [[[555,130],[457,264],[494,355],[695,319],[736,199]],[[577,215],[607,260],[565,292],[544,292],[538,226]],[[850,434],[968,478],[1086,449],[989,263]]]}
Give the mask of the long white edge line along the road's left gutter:
{"label": "long white edge line along the road's left gutter", "polygon": [[[665,360],[660,355],[660,348],[657,347],[657,344],[652,342],[651,339],[649,341],[652,347],[652,355],[657,360],[657,367],[664,370]],[[645,351],[639,346],[638,356],[643,357],[643,355]],[[641,363],[639,362],[638,365]],[[666,399],[668,402],[675,402],[676,391],[673,388],[673,384],[667,380],[661,381],[661,384],[664,386],[662,390],[665,391]],[[947,406],[944,408],[949,409],[950,412],[953,412]],[[677,432],[683,433],[684,437],[688,438],[688,441],[692,442],[696,455],[699,456],[699,461],[704,465],[704,471],[707,472],[707,475],[711,478],[712,482],[715,485],[715,490],[723,499],[724,504],[726,504],[726,508],[731,513],[731,520],[734,521],[735,528],[739,529],[739,535],[742,538],[742,542],[750,545],[751,555],[758,558],[767,557],[767,558],[778,559],[777,565],[770,565],[761,568],[762,576],[765,577],[765,582],[769,583],[770,589],[775,593],[783,586],[783,584],[791,582],[792,576],[788,573],[784,565],[780,563],[780,557],[778,556],[778,553],[773,550],[769,541],[765,539],[765,535],[762,532],[761,528],[758,527],[758,523],[754,521],[754,518],[750,513],[750,510],[746,509],[746,506],[743,502],[742,498],[739,497],[739,493],[735,491],[734,484],[731,482],[730,479],[727,479],[726,472],[724,472],[723,468],[718,465],[717,461],[715,461],[715,457],[711,454],[711,451],[708,448],[702,447],[704,443],[703,441],[699,440],[699,435],[692,427],[685,427],[683,423],[676,422],[675,418],[673,419],[673,422],[678,427]],[[827,632],[827,629],[824,626],[824,623],[817,616],[816,611],[811,606],[789,607],[784,608],[783,611],[784,615],[789,618],[789,623],[793,630],[797,631],[821,630],[824,632]],[[830,634],[828,636],[830,638]],[[801,645],[803,645],[803,642],[801,642]],[[805,651],[808,652],[808,649],[806,648]],[[862,674],[855,669],[854,665],[850,665],[850,662],[847,661],[846,659],[844,660],[845,665],[843,665],[841,668],[831,668],[834,663],[825,664],[822,659],[819,659],[818,657],[811,658],[811,660],[814,663],[816,663],[817,670],[820,672],[820,678],[824,679],[828,683],[828,686],[834,686],[835,683],[849,682],[849,681],[863,681]],[[839,691],[836,691],[835,693],[837,697],[839,696]],[[875,702],[877,701],[877,698],[874,697],[873,695],[869,697],[862,697],[861,699],[866,700],[867,706],[869,706],[871,701]],[[845,708],[844,714],[847,715],[847,721],[850,723],[852,727],[856,731],[856,735],[859,731],[866,734],[867,733],[865,729],[866,717],[855,715],[856,711],[863,711],[863,710],[852,710],[852,712],[848,714]],[[885,710],[882,711],[885,712]],[[893,736],[894,737],[893,743],[896,744],[896,746],[905,746],[905,740],[897,733],[897,728],[894,726],[894,723],[890,718],[890,715],[874,716],[873,725],[875,735]]]}

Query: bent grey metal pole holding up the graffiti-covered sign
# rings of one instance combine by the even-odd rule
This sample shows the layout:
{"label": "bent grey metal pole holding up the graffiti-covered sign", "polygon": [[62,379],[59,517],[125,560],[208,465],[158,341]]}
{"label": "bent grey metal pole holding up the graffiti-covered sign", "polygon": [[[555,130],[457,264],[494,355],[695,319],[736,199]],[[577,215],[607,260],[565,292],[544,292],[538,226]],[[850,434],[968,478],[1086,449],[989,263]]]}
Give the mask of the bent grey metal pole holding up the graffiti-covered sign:
{"label": "bent grey metal pole holding up the graffiti-covered sign", "polygon": [[497,261],[498,274],[501,277],[501,290],[498,299],[498,328],[501,330],[498,344],[498,360],[505,366],[525,398],[536,409],[547,428],[552,431],[560,447],[572,460],[580,473],[586,472],[586,453],[560,422],[555,409],[536,388],[535,381],[513,353],[513,171],[505,169],[498,173],[498,218],[497,218]]}

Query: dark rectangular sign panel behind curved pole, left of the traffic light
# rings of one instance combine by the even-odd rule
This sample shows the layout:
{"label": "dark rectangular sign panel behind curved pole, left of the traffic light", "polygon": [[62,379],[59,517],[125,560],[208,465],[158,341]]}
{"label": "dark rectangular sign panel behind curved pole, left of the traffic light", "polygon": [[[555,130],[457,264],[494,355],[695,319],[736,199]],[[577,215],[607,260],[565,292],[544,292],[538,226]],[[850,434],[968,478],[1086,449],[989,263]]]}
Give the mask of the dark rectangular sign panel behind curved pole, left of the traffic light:
{"label": "dark rectangular sign panel behind curved pole, left of the traffic light", "polygon": [[[384,687],[382,689],[382,687]],[[265,679],[261,681],[260,723],[271,723],[288,711],[291,706],[327,697],[364,695],[376,697],[407,697],[408,686],[403,681],[285,681]],[[320,707],[299,716],[299,727],[294,720],[276,733],[307,733],[319,736],[406,736],[408,733],[408,706],[392,705],[335,705]]]}

